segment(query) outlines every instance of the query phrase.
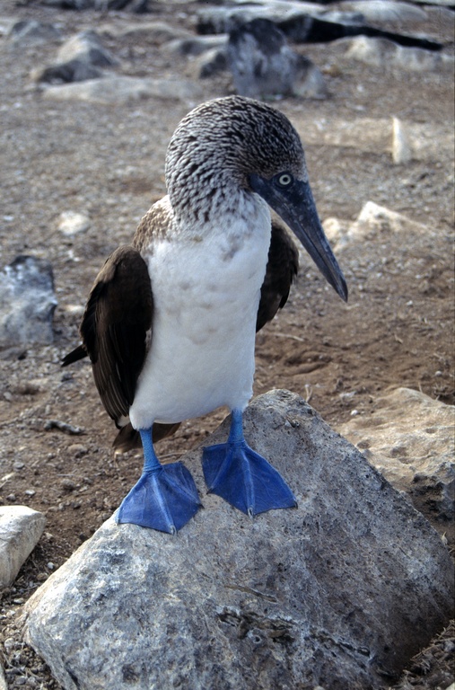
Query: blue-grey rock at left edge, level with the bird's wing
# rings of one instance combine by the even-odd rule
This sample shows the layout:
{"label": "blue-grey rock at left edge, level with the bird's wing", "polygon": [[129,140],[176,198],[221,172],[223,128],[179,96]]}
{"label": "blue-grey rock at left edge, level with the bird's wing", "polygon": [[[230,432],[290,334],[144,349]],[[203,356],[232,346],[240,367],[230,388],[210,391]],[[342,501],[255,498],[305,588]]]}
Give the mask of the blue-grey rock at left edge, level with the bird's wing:
{"label": "blue-grey rock at left edge, level with the bird's wing", "polygon": [[52,342],[56,306],[50,263],[18,256],[0,271],[0,346]]}

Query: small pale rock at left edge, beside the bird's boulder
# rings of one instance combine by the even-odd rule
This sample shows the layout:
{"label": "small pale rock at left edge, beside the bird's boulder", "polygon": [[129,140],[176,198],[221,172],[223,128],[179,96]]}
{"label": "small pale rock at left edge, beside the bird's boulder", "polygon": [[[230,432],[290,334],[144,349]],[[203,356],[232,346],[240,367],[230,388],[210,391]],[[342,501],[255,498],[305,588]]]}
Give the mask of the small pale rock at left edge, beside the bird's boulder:
{"label": "small pale rock at left edge, beside the bird's boulder", "polygon": [[0,589],[13,584],[45,525],[46,517],[38,510],[27,506],[0,506]]}

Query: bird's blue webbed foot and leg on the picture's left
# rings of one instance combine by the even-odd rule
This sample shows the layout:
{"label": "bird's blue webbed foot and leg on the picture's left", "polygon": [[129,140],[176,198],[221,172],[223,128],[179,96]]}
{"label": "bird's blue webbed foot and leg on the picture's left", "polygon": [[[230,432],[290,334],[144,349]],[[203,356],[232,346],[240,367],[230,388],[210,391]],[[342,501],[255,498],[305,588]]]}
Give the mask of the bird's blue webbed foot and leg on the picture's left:
{"label": "bird's blue webbed foot and leg on the picture's left", "polygon": [[152,429],[140,429],[144,468],[139,481],[122,501],[116,521],[175,534],[201,506],[196,484],[181,463],[161,464]]}

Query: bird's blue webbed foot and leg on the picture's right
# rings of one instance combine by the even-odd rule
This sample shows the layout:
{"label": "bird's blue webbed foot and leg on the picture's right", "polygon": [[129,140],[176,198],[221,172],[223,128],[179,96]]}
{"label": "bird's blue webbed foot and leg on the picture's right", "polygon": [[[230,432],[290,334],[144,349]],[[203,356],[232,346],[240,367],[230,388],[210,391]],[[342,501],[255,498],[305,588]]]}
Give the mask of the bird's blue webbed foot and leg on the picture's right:
{"label": "bird's blue webbed foot and leg on the picture's right", "polygon": [[204,449],[202,466],[209,491],[247,515],[297,506],[282,476],[245,441],[241,410],[232,411],[227,443]]}

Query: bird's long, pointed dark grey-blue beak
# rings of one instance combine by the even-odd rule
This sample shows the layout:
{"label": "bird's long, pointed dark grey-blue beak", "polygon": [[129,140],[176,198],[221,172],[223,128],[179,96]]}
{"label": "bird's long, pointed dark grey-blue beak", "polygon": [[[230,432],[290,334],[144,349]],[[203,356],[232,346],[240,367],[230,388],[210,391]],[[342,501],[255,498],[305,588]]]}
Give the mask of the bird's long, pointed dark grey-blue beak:
{"label": "bird's long, pointed dark grey-blue beak", "polygon": [[288,188],[278,187],[276,181],[257,174],[249,175],[251,189],[283,218],[310,254],[325,279],[347,302],[347,286],[337,259],[320,225],[318,211],[308,182],[293,180]]}

